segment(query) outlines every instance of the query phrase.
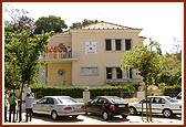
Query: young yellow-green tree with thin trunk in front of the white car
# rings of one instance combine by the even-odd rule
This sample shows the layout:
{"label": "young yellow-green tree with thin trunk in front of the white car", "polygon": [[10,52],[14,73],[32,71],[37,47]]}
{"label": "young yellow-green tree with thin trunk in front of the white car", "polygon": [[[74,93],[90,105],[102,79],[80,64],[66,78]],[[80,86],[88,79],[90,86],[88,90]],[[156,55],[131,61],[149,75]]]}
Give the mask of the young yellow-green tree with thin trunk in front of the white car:
{"label": "young yellow-green tree with thin trunk in front of the white car", "polygon": [[[126,51],[122,59],[121,70],[124,68],[137,68],[140,75],[145,83],[145,98],[147,100],[147,87],[149,85],[157,85],[157,77],[163,71],[163,57],[161,45],[152,41],[145,46],[133,46],[130,51]],[[146,116],[148,120],[148,110],[146,103]]]}

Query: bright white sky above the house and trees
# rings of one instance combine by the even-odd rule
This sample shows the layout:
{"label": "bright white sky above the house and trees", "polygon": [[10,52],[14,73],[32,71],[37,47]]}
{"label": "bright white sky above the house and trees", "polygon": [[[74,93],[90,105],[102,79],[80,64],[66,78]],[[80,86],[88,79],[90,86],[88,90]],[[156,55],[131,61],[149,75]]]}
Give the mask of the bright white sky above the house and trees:
{"label": "bright white sky above the house and trees", "polygon": [[[140,36],[146,36],[144,44],[157,41],[163,53],[176,52],[175,43],[184,47],[184,2],[3,2],[3,9],[23,9],[28,15],[56,15],[68,27],[84,19],[111,22],[138,28]],[[10,17],[2,11],[3,18]]]}

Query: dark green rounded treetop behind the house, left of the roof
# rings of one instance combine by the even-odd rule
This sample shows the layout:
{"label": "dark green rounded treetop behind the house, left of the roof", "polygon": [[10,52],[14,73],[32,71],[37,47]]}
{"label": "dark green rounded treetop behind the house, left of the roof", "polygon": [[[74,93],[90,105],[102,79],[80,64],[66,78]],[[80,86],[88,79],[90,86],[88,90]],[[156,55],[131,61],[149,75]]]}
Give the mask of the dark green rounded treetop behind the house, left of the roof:
{"label": "dark green rounded treetop behind the house, left of the roof", "polygon": [[41,17],[35,21],[37,29],[34,33],[39,34],[43,32],[51,32],[54,33],[62,32],[63,29],[66,29],[68,25],[65,24],[64,20],[60,17],[49,15],[49,17]]}

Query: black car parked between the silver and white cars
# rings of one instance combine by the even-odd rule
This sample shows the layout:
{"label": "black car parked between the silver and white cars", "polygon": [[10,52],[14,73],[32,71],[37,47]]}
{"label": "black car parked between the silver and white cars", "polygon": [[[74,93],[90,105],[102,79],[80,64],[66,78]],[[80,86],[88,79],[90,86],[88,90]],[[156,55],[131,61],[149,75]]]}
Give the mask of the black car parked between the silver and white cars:
{"label": "black car parked between the silver and white cars", "polygon": [[130,114],[128,103],[117,96],[96,96],[85,104],[86,114],[101,115],[104,120],[121,115],[126,118]]}

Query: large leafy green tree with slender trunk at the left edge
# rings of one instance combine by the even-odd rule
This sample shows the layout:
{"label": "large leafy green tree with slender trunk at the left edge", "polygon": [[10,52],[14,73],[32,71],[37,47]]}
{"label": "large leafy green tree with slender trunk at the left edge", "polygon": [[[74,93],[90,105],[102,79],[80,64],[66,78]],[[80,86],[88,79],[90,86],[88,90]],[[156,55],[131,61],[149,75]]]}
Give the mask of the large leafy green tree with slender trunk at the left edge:
{"label": "large leafy green tree with slender trunk at the left edge", "polygon": [[27,17],[25,13],[20,13],[19,10],[8,12],[14,13],[10,13],[12,21],[7,23],[4,28],[4,85],[8,88],[14,88],[16,84],[21,89],[19,105],[19,120],[21,121],[23,85],[37,82],[39,56],[44,51],[48,39],[52,34],[34,34],[35,25],[31,18]]}

